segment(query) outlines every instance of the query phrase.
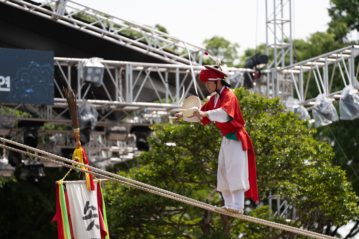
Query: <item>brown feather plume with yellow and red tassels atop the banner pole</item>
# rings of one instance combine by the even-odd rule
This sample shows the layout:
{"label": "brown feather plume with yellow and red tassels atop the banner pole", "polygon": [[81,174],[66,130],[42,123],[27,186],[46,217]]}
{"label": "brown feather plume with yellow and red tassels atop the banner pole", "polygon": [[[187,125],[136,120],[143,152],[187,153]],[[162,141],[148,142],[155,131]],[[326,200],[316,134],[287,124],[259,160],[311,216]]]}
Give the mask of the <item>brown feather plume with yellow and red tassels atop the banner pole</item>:
{"label": "brown feather plume with yellow and red tassels atop the banner pole", "polygon": [[[75,139],[76,139],[76,149],[72,156],[72,160],[77,161],[79,163],[83,163],[89,165],[86,152],[83,148],[81,148],[80,143],[80,127],[79,127],[79,119],[77,114],[77,102],[76,102],[76,95],[77,89],[75,88],[70,89],[70,87],[63,87],[62,92],[64,93],[65,102],[67,105],[67,109],[69,109],[69,113],[71,116],[72,126],[74,127]],[[91,171],[89,168],[81,167],[82,169]],[[81,177],[81,173],[80,173]],[[86,183],[87,183],[87,190],[94,191],[95,190],[95,183],[93,181],[92,176],[88,173],[85,173]]]}

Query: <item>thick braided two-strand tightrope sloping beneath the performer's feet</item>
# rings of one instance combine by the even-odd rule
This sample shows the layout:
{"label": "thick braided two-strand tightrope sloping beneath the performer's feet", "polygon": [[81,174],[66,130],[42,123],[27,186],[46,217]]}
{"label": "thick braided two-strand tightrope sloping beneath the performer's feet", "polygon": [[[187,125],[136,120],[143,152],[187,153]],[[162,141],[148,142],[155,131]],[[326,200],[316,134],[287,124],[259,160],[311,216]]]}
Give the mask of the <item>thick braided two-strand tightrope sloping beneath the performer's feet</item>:
{"label": "thick braided two-strand tightrope sloping beneath the performer's feet", "polygon": [[[135,180],[131,180],[131,179],[126,178],[126,177],[122,177],[122,176],[120,176],[120,175],[116,175],[116,174],[113,174],[113,173],[109,173],[109,172],[107,172],[107,171],[103,171],[103,170],[101,170],[101,169],[88,166],[88,165],[86,165],[86,164],[78,163],[78,162],[76,162],[76,161],[73,161],[73,160],[70,160],[70,159],[67,159],[67,158],[63,158],[63,157],[57,156],[57,155],[55,155],[55,154],[51,154],[51,153],[48,153],[48,152],[45,152],[45,151],[42,151],[42,150],[39,150],[39,149],[36,149],[36,148],[29,147],[29,146],[27,146],[27,145],[23,145],[23,144],[20,144],[20,143],[17,143],[17,142],[8,140],[8,139],[4,139],[4,138],[1,138],[1,137],[0,137],[0,140],[3,140],[3,141],[5,141],[5,142],[11,143],[11,144],[18,145],[18,146],[23,147],[23,148],[28,148],[28,149],[30,149],[30,150],[33,150],[33,151],[36,151],[36,152],[39,152],[39,153],[46,154],[46,155],[48,155],[48,156],[51,156],[51,157],[54,157],[54,158],[58,158],[58,159],[64,160],[64,161],[69,162],[69,163],[73,163],[73,164],[76,164],[76,165],[79,165],[79,166],[83,166],[83,167],[86,167],[86,168],[90,168],[90,169],[92,169],[92,170],[94,170],[94,171],[102,172],[102,173],[105,173],[105,174],[107,174],[107,175],[111,175],[111,176],[118,177],[118,178],[121,178],[121,179],[123,178],[123,179],[126,180],[126,181],[130,181],[130,182],[133,182],[133,183],[136,183],[136,184],[140,184],[140,185],[143,185],[143,186],[145,186],[145,187],[150,187],[150,188],[153,188],[154,190],[163,191],[163,192],[168,193],[168,194],[165,194],[165,193],[162,193],[162,192],[153,191],[153,190],[148,191],[147,188],[142,189],[143,187],[139,187],[139,186],[137,186],[137,185],[133,185],[133,184],[130,184],[130,183],[126,183],[126,182],[123,182],[123,181],[120,181],[120,180],[115,180],[115,179],[113,179],[113,178],[110,178],[110,177],[107,177],[107,176],[104,176],[104,175],[99,175],[98,173],[89,172],[89,171],[86,171],[86,170],[84,170],[84,169],[81,170],[81,171],[83,171],[83,172],[90,173],[90,174],[95,175],[95,176],[98,176],[98,177],[107,178],[107,179],[109,179],[109,180],[111,180],[111,181],[120,182],[120,183],[122,183],[122,184],[131,186],[131,187],[135,187],[135,188],[139,188],[139,189],[142,189],[142,190],[145,190],[145,191],[148,191],[148,192],[156,193],[156,194],[161,195],[161,196],[169,197],[169,196],[171,195],[171,197],[169,197],[169,198],[171,198],[171,199],[174,199],[174,200],[177,200],[177,201],[181,201],[181,202],[186,202],[186,203],[188,203],[188,204],[190,204],[190,205],[194,205],[194,206],[198,206],[198,207],[201,207],[201,208],[205,208],[206,210],[211,210],[211,211],[219,212],[219,213],[222,213],[222,214],[225,214],[225,215],[229,215],[229,216],[233,216],[233,217],[236,217],[236,218],[240,218],[240,219],[243,219],[243,220],[252,221],[252,222],[255,222],[255,223],[262,224],[262,225],[267,225],[267,226],[271,226],[271,227],[274,227],[274,228],[291,231],[291,232],[293,232],[293,233],[298,233],[298,234],[302,234],[302,235],[306,235],[306,236],[311,236],[311,237],[314,237],[314,238],[319,238],[319,239],[323,239],[323,238],[327,238],[327,239],[337,239],[337,238],[332,237],[332,236],[327,236],[327,235],[323,235],[323,234],[320,234],[320,233],[315,233],[315,232],[308,231],[308,230],[304,230],[304,229],[300,229],[300,228],[294,228],[294,227],[288,226],[288,225],[283,225],[283,224],[274,223],[274,222],[271,222],[271,221],[266,221],[266,220],[263,220],[263,219],[253,218],[253,217],[246,216],[246,215],[233,214],[233,213],[230,213],[230,212],[225,211],[224,209],[220,209],[220,208],[218,208],[218,207],[216,207],[216,206],[213,206],[213,205],[210,205],[210,204],[206,204],[206,203],[204,203],[204,202],[200,202],[200,201],[197,201],[197,200],[194,200],[194,199],[190,199],[190,198],[188,198],[188,197],[185,197],[185,196],[182,196],[182,195],[178,195],[178,194],[176,194],[176,193],[163,190],[163,189],[161,189],[161,188],[157,188],[157,187],[153,187],[153,186],[150,186],[150,185],[146,185],[145,183],[141,183],[141,182],[138,182],[138,181],[135,181]],[[0,144],[0,147],[6,148],[6,149],[9,149],[9,150],[13,150],[13,151],[15,151],[15,152],[23,153],[23,154],[26,154],[26,155],[31,156],[31,157],[36,157],[36,158],[39,158],[39,159],[42,159],[42,160],[45,160],[45,161],[48,161],[48,162],[52,162],[52,163],[55,163],[55,164],[59,164],[59,165],[62,165],[62,166],[64,166],[64,167],[68,167],[68,168],[73,168],[73,169],[75,169],[75,170],[79,170],[79,168],[77,168],[77,167],[70,166],[70,165],[68,165],[68,164],[61,163],[61,162],[58,162],[58,161],[55,161],[55,160],[52,160],[52,159],[48,159],[48,158],[41,157],[41,156],[38,156],[38,155],[35,155],[35,154],[31,154],[31,153],[28,153],[28,152],[24,152],[24,151],[22,151],[22,150],[14,149],[14,148],[11,148],[11,147],[2,145],[2,144]],[[172,195],[173,195],[173,196],[172,196]],[[177,197],[177,195],[178,195],[178,197]],[[183,201],[182,199],[184,199],[184,201]],[[187,200],[187,199],[188,199],[188,200]]]}

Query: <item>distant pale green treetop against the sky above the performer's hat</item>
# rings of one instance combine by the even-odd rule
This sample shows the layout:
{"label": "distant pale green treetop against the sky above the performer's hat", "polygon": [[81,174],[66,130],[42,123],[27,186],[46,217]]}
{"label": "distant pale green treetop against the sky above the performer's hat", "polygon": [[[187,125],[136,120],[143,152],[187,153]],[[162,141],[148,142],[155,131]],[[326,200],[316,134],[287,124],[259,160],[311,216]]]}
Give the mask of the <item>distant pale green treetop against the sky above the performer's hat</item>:
{"label": "distant pale green treetop against the sky above the performer's hat", "polygon": [[[214,36],[211,39],[206,39],[203,42],[206,51],[215,58],[220,58],[222,64],[227,64],[228,67],[233,66],[233,61],[238,59],[237,43],[230,43],[229,40],[223,37]],[[204,59],[205,64],[213,65],[215,61],[211,58]]]}

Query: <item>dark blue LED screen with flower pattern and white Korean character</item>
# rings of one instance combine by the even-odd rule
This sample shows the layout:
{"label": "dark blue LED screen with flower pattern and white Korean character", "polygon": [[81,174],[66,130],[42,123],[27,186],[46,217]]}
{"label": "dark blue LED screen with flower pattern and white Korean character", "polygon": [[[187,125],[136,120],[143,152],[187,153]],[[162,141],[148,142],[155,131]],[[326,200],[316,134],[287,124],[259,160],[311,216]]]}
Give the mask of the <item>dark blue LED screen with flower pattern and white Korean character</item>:
{"label": "dark blue LED screen with flower pattern and white Korean character", "polygon": [[0,48],[0,102],[53,105],[53,52]]}

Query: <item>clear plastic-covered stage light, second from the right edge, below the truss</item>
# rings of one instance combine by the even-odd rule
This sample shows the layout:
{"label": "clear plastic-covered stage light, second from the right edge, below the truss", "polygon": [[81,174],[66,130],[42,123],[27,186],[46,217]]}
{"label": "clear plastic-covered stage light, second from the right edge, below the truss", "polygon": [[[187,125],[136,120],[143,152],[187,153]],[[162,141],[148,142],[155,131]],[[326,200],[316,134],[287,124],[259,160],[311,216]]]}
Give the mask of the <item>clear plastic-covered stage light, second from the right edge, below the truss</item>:
{"label": "clear plastic-covered stage light, second from the right edge, below the truss", "polygon": [[312,114],[315,128],[339,121],[333,102],[323,94],[317,96]]}

